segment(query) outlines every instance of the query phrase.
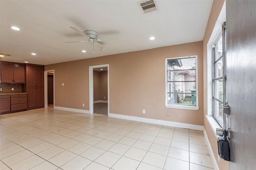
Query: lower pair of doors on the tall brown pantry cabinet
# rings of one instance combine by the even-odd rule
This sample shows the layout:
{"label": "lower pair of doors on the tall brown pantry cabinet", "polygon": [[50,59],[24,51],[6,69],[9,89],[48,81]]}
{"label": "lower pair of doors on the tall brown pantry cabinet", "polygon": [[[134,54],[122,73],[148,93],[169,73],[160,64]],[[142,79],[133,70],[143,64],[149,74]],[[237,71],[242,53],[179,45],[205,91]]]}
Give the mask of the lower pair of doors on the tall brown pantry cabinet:
{"label": "lower pair of doors on the tall brown pantry cabinet", "polygon": [[44,87],[28,87],[28,109],[44,107]]}

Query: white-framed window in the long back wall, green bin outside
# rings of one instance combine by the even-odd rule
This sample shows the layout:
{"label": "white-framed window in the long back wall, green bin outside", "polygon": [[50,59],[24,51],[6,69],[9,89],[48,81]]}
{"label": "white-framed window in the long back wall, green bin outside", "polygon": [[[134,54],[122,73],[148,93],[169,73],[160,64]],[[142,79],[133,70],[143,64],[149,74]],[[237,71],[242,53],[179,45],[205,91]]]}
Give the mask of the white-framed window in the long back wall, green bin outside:
{"label": "white-framed window in the long back wall, green bin outside", "polygon": [[196,109],[197,56],[166,59],[166,107]]}

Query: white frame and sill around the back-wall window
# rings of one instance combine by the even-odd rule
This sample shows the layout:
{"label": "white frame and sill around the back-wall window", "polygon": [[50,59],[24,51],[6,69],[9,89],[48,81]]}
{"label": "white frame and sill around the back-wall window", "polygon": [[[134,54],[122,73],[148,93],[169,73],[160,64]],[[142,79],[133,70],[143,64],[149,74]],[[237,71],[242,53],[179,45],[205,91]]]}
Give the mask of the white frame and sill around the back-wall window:
{"label": "white frame and sill around the back-wall window", "polygon": [[[168,104],[168,73],[167,73],[167,61],[171,59],[185,59],[188,57],[195,57],[196,58],[196,106],[188,106],[188,105],[181,105],[181,104]],[[194,56],[186,56],[186,57],[176,57],[176,58],[168,58],[165,59],[165,107],[168,108],[177,108],[177,109],[189,109],[189,110],[198,110],[198,61],[197,61],[197,55]]]}

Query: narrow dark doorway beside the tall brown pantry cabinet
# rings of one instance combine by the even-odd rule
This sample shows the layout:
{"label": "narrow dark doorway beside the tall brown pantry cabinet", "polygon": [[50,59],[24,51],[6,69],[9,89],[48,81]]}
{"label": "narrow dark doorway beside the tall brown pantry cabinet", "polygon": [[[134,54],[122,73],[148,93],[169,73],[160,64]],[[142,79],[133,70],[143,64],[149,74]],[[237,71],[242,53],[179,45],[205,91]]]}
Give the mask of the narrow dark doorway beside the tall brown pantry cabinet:
{"label": "narrow dark doorway beside the tall brown pantry cabinet", "polygon": [[54,108],[54,70],[44,71],[44,107]]}

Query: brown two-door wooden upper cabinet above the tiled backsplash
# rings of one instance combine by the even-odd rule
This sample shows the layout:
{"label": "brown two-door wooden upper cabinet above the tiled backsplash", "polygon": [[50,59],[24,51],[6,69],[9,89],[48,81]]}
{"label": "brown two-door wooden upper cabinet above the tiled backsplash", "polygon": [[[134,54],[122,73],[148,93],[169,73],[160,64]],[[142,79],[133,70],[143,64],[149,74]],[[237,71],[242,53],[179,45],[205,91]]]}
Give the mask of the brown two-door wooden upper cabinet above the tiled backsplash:
{"label": "brown two-door wooden upper cabinet above the tiled backsplash", "polygon": [[1,61],[1,83],[25,83],[25,65]]}

